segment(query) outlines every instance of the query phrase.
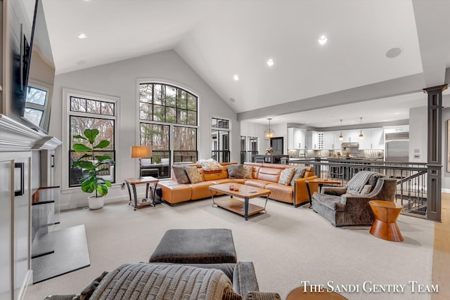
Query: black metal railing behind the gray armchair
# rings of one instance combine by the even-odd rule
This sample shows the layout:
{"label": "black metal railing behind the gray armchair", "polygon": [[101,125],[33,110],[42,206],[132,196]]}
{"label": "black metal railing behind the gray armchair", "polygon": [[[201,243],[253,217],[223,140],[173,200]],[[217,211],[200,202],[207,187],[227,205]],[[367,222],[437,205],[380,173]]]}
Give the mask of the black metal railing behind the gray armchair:
{"label": "black metal railing behind the gray armchair", "polygon": [[311,166],[316,176],[342,182],[342,186],[359,171],[375,171],[397,179],[396,202],[403,207],[402,214],[426,218],[427,167],[425,163],[384,162],[370,159],[311,158],[290,160],[289,164]]}

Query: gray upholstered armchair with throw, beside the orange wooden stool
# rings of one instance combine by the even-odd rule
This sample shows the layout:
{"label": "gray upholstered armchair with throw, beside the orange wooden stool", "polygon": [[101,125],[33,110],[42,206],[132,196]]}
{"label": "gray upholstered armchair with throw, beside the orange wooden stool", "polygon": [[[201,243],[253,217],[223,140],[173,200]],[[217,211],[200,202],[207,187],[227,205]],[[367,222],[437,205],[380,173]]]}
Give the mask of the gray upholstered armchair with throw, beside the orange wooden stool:
{"label": "gray upholstered armchair with throw, beside the orange wooden stool", "polygon": [[312,196],[312,209],[334,226],[369,226],[374,216],[368,202],[394,202],[397,180],[372,171],[359,171],[344,188],[323,187]]}

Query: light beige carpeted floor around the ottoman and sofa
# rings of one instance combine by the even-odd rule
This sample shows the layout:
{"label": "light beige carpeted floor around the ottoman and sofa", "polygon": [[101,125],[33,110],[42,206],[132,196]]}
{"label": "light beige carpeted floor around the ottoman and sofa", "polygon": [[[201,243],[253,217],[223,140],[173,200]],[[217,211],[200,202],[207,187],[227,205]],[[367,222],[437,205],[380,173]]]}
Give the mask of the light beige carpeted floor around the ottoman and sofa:
{"label": "light beige carpeted floor around the ottoman and sofa", "polygon": [[[252,203],[264,205],[264,200]],[[404,242],[387,242],[368,233],[369,227],[335,228],[307,206],[269,200],[267,214],[242,216],[212,207],[211,200],[169,207],[159,204],[134,211],[128,202],[103,209],[62,211],[60,227],[86,226],[91,266],[27,288],[25,299],[80,292],[103,270],[122,263],[148,261],[165,230],[171,228],[231,228],[238,259],[253,261],[259,288],[278,292],[309,281],[314,285],[359,287],[340,292],[348,299],[430,299],[411,292],[411,284],[431,285],[435,223],[399,216]],[[378,285],[405,285],[404,292],[364,292]],[[369,283],[370,282],[370,283]]]}

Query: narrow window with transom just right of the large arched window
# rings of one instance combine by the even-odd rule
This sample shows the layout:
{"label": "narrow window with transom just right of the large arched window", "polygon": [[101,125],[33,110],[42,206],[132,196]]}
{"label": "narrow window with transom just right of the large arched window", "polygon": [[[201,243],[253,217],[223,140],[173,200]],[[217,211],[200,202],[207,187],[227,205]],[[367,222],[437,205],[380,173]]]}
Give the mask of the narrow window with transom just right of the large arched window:
{"label": "narrow window with transom just right of the large arched window", "polygon": [[230,121],[211,118],[211,157],[217,162],[230,161]]}

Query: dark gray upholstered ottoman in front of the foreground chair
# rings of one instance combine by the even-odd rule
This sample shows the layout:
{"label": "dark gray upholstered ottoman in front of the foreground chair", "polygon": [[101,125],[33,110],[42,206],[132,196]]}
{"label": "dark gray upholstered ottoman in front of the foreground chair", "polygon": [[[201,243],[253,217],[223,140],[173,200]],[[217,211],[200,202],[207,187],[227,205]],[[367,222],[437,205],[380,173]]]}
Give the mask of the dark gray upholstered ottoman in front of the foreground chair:
{"label": "dark gray upholstered ottoman in front of the foreground chair", "polygon": [[150,263],[236,263],[231,229],[170,229],[162,237]]}

